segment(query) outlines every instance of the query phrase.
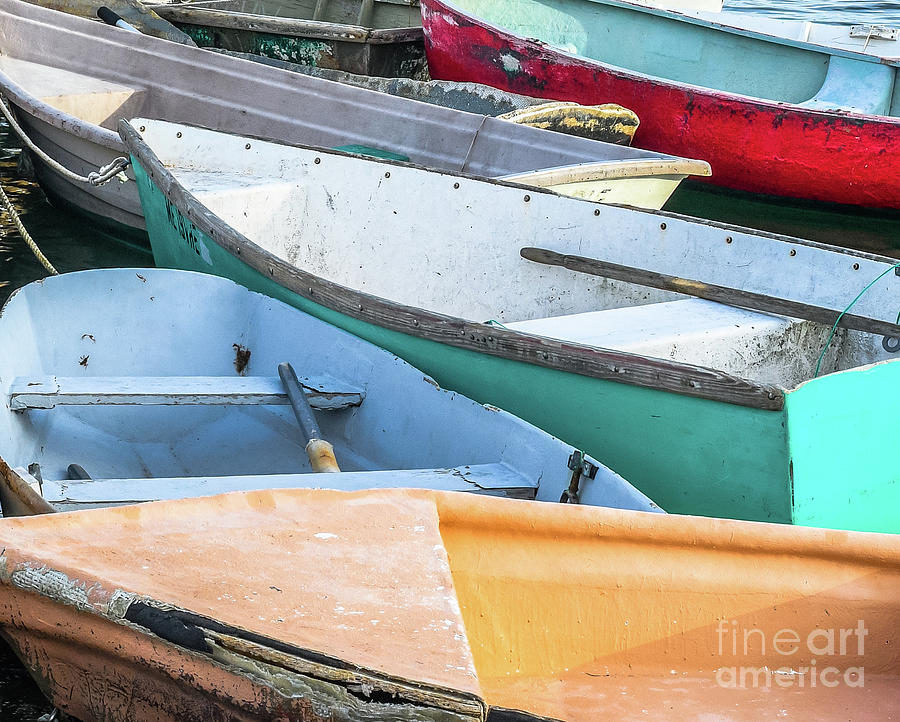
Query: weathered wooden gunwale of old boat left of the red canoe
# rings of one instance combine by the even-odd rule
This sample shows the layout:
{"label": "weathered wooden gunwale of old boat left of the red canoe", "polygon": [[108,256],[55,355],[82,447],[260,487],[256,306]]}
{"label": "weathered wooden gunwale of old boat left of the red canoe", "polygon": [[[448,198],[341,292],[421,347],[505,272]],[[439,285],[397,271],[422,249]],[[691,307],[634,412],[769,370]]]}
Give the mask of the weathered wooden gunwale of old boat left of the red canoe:
{"label": "weathered wooden gunwale of old boat left of the red canoe", "polygon": [[149,5],[148,7],[169,22],[206,25],[213,28],[228,28],[232,30],[253,30],[292,37],[374,44],[416,42],[421,41],[423,37],[421,27],[375,29],[362,25],[281,18],[211,8],[192,8],[165,4]]}

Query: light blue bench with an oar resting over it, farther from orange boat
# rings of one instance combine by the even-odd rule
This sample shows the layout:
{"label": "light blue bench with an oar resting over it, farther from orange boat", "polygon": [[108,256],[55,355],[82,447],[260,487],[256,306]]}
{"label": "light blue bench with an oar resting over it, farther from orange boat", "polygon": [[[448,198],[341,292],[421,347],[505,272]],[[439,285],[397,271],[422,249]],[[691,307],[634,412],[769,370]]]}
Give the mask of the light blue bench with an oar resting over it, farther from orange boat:
{"label": "light blue bench with an oar resting over it, farther from orange boat", "polygon": [[[359,406],[361,389],[325,378],[304,378],[309,404],[335,411]],[[277,376],[40,376],[18,377],[9,391],[12,411],[55,406],[179,406],[288,404]]]}

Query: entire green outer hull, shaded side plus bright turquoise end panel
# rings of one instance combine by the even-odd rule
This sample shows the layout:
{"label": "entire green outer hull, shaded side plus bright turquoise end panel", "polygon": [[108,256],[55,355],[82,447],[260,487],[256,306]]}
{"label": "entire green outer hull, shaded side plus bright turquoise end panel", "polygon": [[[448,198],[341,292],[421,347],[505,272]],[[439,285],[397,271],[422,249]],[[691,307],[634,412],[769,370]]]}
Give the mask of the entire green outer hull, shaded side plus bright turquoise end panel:
{"label": "entire green outer hull, shaded side plus bright turquoise end panel", "polygon": [[[900,471],[886,453],[891,427],[886,418],[869,418],[874,399],[884,406],[879,413],[889,413],[884,389],[898,387],[900,363],[809,382],[775,411],[452,347],[361,321],[280,285],[184,217],[133,161],[158,266],[225,276],[386,348],[441,386],[601,459],[670,513],[900,532],[889,513],[900,502]],[[836,407],[845,397],[849,405]],[[860,419],[868,457],[856,453]]]}

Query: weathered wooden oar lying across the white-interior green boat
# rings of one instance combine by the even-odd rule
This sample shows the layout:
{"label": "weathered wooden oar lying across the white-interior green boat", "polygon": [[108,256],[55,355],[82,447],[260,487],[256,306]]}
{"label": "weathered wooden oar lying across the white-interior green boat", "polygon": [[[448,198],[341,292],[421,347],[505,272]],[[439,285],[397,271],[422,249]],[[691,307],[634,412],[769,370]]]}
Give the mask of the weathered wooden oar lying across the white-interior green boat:
{"label": "weathered wooden oar lying across the white-interior green boat", "polygon": [[750,308],[766,313],[778,313],[784,316],[802,318],[808,321],[817,321],[833,325],[840,317],[840,326],[865,331],[866,333],[881,334],[884,336],[900,337],[900,325],[878,321],[877,319],[854,316],[845,313],[840,316],[839,311],[821,306],[812,306],[798,301],[789,301],[783,298],[773,298],[762,293],[742,291],[736,288],[726,288],[713,284],[702,283],[689,278],[678,278],[656,271],[646,271],[640,268],[631,268],[617,263],[609,263],[597,258],[585,258],[564,253],[557,253],[546,248],[526,247],[519,251],[519,255],[528,261],[543,263],[550,266],[561,266],[570,271],[587,273],[592,276],[613,278],[617,281],[639,283],[642,286],[661,288],[666,291],[684,293],[697,298],[705,298],[709,301],[718,301],[731,306]]}

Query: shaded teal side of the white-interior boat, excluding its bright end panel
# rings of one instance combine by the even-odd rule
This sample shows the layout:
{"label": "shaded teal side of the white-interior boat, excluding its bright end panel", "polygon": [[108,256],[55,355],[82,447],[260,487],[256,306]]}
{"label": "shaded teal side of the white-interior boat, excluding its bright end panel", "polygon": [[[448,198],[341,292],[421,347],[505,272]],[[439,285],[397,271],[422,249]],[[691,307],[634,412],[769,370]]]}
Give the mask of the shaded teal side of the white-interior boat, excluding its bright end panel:
{"label": "shaded teal side of the white-interior boat, excluding its bright end panel", "polygon": [[[134,170],[158,266],[231,278],[382,346],[445,388],[506,409],[578,446],[666,511],[791,521],[782,412],[565,373],[359,321],[250,268],[167,207],[137,162]],[[193,243],[184,240],[170,216]]]}

